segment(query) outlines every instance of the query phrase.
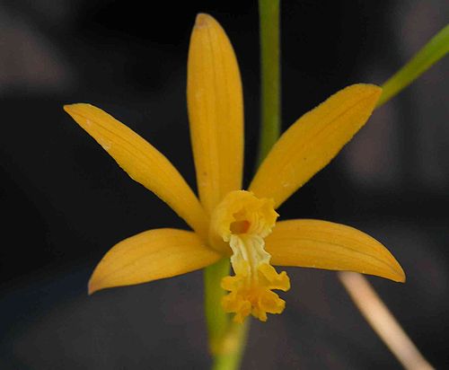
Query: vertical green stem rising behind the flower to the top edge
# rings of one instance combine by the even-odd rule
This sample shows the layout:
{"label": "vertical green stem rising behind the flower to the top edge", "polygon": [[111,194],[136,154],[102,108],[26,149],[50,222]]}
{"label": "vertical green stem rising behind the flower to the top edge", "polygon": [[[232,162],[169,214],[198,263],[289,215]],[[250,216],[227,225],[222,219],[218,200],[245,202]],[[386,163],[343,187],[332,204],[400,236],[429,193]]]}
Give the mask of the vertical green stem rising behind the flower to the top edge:
{"label": "vertical green stem rising behind the flower to the top edge", "polygon": [[259,163],[280,135],[279,0],[259,0],[260,13],[260,147]]}

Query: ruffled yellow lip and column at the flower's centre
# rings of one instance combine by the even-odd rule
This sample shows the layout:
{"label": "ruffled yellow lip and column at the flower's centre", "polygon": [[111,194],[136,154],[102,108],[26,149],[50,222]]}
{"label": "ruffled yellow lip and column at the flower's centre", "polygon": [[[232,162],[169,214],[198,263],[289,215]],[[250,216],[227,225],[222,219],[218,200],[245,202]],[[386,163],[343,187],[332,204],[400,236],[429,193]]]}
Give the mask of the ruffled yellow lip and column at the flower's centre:
{"label": "ruffled yellow lip and column at the flower's centre", "polygon": [[264,241],[277,216],[272,199],[256,198],[245,190],[229,192],[212,213],[211,244],[228,254],[232,251],[234,275],[222,280],[230,292],[222,305],[225,312],[235,313],[235,322],[250,314],[264,322],[267,313],[284,310],[285,302],[272,290],[288,290],[290,280],[270,265]]}

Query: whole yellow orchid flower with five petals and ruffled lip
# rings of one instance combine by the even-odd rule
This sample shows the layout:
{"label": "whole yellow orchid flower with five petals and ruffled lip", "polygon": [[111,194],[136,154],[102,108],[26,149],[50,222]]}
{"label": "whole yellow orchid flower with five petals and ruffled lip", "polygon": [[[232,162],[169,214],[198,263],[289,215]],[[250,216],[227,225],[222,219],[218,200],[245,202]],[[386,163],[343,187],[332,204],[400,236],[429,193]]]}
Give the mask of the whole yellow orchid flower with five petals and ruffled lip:
{"label": "whole yellow orchid flower with five petals and ruffled lip", "polygon": [[276,209],[339,153],[371,115],[382,89],[354,84],[304,114],[277,141],[242,189],[242,82],[233,47],[210,15],[199,14],[188,63],[188,106],[199,198],[163,154],[103,110],[64,109],[129,176],[163,199],[193,229],[155,229],[119,242],[93,271],[89,293],[170,278],[230,258],[222,301],[235,322],[282,313],[273,290],[290,287],[273,266],[352,270],[405,280],[371,236],[320,220],[277,222]]}

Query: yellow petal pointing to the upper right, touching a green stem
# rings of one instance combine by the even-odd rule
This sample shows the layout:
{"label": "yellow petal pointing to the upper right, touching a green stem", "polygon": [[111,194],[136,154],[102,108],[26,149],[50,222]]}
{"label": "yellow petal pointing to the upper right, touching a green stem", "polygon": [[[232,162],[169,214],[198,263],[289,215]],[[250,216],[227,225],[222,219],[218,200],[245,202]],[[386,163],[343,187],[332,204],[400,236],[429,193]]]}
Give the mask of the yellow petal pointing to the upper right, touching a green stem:
{"label": "yellow petal pointing to the upper right, touching a green stem", "polygon": [[381,93],[373,84],[354,84],[304,114],[273,146],[250,190],[279,207],[362,128]]}

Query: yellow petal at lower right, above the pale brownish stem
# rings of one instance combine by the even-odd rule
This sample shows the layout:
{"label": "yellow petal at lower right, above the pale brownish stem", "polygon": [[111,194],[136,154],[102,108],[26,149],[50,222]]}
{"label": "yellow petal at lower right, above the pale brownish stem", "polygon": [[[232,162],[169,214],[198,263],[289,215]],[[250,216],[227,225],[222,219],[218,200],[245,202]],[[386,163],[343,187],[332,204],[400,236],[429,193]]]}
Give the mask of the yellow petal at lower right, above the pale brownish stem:
{"label": "yellow petal at lower right, above the pale brownish stem", "polygon": [[361,272],[405,281],[401,265],[380,242],[357,229],[320,220],[278,222],[266,239],[271,263]]}

